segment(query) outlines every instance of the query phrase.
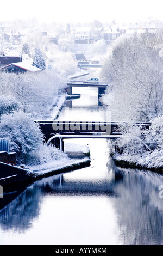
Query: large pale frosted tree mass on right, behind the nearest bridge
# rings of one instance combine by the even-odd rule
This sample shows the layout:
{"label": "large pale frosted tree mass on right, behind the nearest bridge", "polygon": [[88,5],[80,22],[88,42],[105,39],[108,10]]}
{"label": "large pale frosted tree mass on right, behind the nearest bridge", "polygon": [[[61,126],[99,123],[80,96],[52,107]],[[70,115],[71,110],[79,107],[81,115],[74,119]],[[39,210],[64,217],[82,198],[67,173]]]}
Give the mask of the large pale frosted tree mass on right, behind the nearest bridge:
{"label": "large pale frosted tree mass on right, behind the nearest bridge", "polygon": [[114,88],[104,100],[118,120],[149,121],[162,113],[160,38],[155,34],[118,39],[106,59],[102,77]]}

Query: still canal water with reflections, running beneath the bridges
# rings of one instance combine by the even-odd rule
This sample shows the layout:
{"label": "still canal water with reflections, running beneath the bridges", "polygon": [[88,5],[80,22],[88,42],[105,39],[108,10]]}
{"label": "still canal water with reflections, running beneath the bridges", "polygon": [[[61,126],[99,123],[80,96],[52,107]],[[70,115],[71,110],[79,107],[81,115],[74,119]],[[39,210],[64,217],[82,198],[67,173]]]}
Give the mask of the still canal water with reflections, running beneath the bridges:
{"label": "still canal water with reflections, running beneath the bridges", "polygon": [[[96,88],[73,93],[80,99],[67,102],[58,120],[105,120]],[[163,176],[116,167],[106,139],[66,143],[88,144],[91,166],[36,181],[15,198],[18,188],[10,192],[0,245],[162,245]]]}

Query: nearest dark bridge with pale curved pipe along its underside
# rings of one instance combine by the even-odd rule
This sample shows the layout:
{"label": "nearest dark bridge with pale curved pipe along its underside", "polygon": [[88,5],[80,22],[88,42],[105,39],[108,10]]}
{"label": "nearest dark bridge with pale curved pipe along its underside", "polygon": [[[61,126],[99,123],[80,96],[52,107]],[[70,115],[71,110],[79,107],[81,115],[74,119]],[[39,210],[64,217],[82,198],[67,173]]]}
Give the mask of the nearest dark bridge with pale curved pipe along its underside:
{"label": "nearest dark bridge with pale curved pipe along its underside", "polygon": [[[121,127],[130,125],[125,122],[89,121],[35,121],[45,136],[45,142],[64,150],[64,139],[68,138],[105,138],[117,139],[122,135]],[[151,123],[134,123],[141,129],[148,129]]]}

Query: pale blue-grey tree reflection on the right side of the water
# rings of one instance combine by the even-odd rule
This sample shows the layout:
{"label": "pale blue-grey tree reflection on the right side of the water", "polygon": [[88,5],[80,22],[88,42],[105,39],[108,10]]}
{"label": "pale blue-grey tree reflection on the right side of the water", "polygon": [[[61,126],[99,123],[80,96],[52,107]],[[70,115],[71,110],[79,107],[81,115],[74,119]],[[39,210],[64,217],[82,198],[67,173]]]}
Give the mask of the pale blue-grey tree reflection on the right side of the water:
{"label": "pale blue-grey tree reflection on the right side of the water", "polygon": [[163,204],[159,198],[162,175],[143,170],[119,169],[122,175],[116,188],[119,197],[114,201],[126,245],[163,244]]}

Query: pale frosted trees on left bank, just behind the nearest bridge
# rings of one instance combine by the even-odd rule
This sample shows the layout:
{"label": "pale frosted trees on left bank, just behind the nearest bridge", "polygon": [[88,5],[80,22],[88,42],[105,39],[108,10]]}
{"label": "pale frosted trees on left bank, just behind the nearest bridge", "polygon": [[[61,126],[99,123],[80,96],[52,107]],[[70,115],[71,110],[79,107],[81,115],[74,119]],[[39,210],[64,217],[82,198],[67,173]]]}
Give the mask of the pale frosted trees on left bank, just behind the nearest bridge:
{"label": "pale frosted trees on left bank, just behind the nearest bridge", "polygon": [[61,75],[48,70],[39,74],[27,72],[7,75],[9,96],[12,95],[16,99],[22,111],[32,114],[35,118],[45,118],[59,90],[66,86],[66,80]]}

